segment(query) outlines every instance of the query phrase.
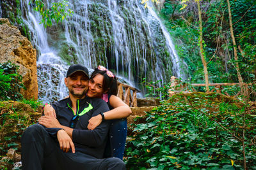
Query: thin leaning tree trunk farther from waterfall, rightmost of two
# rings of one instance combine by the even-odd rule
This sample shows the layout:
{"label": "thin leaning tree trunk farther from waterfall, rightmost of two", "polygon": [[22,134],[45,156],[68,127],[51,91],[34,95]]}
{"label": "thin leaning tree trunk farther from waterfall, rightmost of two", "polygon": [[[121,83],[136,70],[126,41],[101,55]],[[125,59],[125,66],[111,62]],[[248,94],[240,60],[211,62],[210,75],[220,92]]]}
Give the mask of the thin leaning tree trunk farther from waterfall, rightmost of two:
{"label": "thin leaning tree trunk farther from waterfall, rightmost of two", "polygon": [[237,57],[236,39],[235,39],[235,36],[234,36],[234,31],[233,31],[232,16],[231,16],[229,0],[227,0],[227,4],[228,4],[228,16],[229,16],[230,34],[231,34],[233,48],[234,48],[234,58],[236,60],[235,67],[236,67],[236,71],[237,71],[237,78],[238,78],[238,81],[239,81],[239,86],[241,88],[241,92],[242,92],[242,94],[244,94],[244,92],[243,92],[243,78],[242,78],[242,76],[240,74],[239,64],[237,62],[238,57]]}

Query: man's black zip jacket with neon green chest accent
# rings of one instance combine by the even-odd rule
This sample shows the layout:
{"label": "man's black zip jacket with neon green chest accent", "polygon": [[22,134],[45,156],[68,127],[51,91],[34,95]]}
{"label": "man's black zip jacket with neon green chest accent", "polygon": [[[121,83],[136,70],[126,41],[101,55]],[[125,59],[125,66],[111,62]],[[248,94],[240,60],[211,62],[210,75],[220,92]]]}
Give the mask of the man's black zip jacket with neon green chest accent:
{"label": "man's black zip jacket with neon green chest accent", "polygon": [[[92,108],[89,107],[89,104],[92,105]],[[72,110],[72,102],[70,98],[58,101],[57,103],[52,104],[52,107],[56,111],[56,116],[60,124],[70,127],[72,118],[76,115]],[[76,152],[83,152],[98,159],[103,157],[109,130],[109,121],[102,121],[102,123],[94,130],[88,130],[87,125],[90,118],[99,115],[100,112],[108,110],[108,104],[99,98],[85,97],[84,99],[77,100],[77,115],[82,111],[85,113],[83,115],[80,114],[74,121],[75,124],[72,139],[76,146]],[[56,136],[56,133],[60,129],[47,128],[46,130],[53,136]]]}

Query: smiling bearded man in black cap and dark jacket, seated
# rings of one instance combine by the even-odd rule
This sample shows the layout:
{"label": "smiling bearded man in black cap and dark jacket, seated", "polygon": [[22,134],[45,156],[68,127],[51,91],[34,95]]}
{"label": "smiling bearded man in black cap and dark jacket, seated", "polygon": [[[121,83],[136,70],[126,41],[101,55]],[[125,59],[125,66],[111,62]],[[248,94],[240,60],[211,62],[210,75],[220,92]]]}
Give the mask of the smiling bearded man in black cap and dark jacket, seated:
{"label": "smiling bearded man in black cap and dark jacket, seated", "polygon": [[102,99],[86,97],[88,80],[86,67],[68,68],[69,97],[52,104],[57,118],[43,116],[22,135],[22,169],[125,169],[120,159],[102,159],[109,122],[87,129],[91,117],[109,110]]}

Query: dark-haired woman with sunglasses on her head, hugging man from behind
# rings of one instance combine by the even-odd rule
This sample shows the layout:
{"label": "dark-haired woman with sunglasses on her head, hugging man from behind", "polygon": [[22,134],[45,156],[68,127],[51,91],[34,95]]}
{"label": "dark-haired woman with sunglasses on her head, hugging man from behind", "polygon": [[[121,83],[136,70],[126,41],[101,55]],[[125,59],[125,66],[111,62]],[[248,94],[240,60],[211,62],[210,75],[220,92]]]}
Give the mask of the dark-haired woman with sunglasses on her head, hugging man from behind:
{"label": "dark-haired woman with sunglasses on her head, hugging man from behind", "polygon": [[[104,153],[105,157],[118,157],[123,159],[125,140],[127,136],[127,120],[131,114],[131,109],[125,104],[117,94],[116,76],[103,66],[99,66],[93,71],[88,85],[88,97],[99,97],[108,103],[109,111],[103,113],[104,119],[111,120],[109,128],[109,139]],[[56,117],[51,105],[44,108],[45,115]],[[102,122],[102,115],[97,115],[89,120],[88,129],[95,129]],[[109,147],[110,146],[110,147]]]}

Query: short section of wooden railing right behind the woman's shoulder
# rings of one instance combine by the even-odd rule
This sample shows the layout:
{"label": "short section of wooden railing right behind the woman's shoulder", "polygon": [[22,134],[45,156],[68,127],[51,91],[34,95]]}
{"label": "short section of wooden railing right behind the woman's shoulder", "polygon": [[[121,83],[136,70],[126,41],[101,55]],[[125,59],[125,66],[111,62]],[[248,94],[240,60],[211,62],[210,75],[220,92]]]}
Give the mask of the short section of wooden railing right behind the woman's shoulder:
{"label": "short section of wooden railing right behind the woman's shoulder", "polygon": [[140,92],[140,90],[118,81],[117,96],[128,106],[137,107],[137,92]]}

